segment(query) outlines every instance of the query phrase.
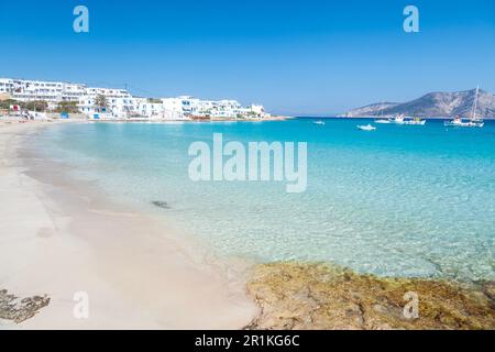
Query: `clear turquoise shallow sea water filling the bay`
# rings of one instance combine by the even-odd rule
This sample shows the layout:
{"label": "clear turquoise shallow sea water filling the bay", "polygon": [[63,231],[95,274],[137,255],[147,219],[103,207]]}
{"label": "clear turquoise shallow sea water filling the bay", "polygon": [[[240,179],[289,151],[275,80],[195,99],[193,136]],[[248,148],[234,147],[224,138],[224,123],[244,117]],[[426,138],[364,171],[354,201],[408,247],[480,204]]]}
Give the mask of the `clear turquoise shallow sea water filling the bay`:
{"label": "clear turquoise shallow sea water filling the bay", "polygon": [[[113,198],[160,211],[219,255],[332,261],[393,276],[495,279],[495,122],[484,129],[301,119],[262,123],[67,124],[40,142]],[[189,144],[308,142],[308,188],[193,183]],[[158,209],[151,201],[166,201]]]}

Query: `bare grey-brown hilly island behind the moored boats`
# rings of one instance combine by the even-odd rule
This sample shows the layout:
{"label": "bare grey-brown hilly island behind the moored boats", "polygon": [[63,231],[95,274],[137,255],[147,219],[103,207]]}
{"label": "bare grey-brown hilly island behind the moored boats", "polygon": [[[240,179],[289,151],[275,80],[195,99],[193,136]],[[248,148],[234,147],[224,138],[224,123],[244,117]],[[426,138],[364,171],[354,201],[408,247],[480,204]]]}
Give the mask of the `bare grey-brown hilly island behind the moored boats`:
{"label": "bare grey-brown hilly island behind the moored boats", "polygon": [[[430,92],[408,102],[381,102],[353,109],[339,117],[359,118],[405,114],[420,118],[471,117],[476,89],[457,92]],[[480,90],[476,116],[495,119],[495,96]]]}

